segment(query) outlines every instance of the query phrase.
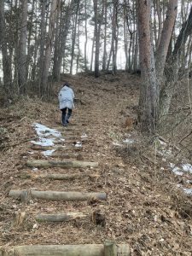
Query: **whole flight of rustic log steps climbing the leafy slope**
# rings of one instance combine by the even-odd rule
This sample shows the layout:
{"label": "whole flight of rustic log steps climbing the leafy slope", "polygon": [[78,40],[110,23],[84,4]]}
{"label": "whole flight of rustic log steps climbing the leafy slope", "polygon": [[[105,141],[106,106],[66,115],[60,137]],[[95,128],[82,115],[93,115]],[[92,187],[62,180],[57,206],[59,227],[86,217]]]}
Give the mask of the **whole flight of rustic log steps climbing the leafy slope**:
{"label": "whole flight of rustic log steps climbing the leafy slope", "polygon": [[[87,113],[87,115],[93,113]],[[99,163],[94,161],[84,161],[79,160],[79,152],[84,154],[84,159],[86,159],[86,153],[82,150],[84,148],[84,142],[91,139],[91,134],[89,133],[88,137],[82,137],[84,130],[90,132],[87,129],[87,124],[85,120],[82,123],[79,122],[79,119],[83,119],[83,116],[80,115],[77,118],[73,118],[75,124],[69,124],[67,127],[61,127],[58,125],[54,127],[57,131],[61,132],[61,137],[58,141],[55,141],[55,152],[47,157],[46,160],[37,160],[32,159],[32,154],[29,155],[29,159],[26,161],[26,166],[30,168],[51,168],[53,172],[44,173],[44,172],[23,172],[20,178],[27,177],[32,179],[40,179],[42,181],[49,180],[49,183],[55,183],[56,180],[63,182],[63,187],[65,182],[71,181],[73,188],[73,181],[79,180],[83,177],[94,177],[94,170],[99,168]],[[51,127],[50,127],[51,128]],[[74,141],[80,141],[82,147],[76,147]],[[94,142],[93,142],[94,143]],[[65,147],[64,147],[65,146]],[[33,152],[38,152],[39,150],[51,150],[51,146],[40,146],[32,145],[31,150]],[[35,154],[34,154],[35,155]],[[56,168],[65,168],[65,169],[75,169],[76,171],[71,173],[57,173],[55,172]],[[80,171],[79,171],[80,170]],[[85,170],[85,171],[84,171]],[[105,191],[61,191],[57,190],[38,190],[34,188],[28,189],[11,189],[9,191],[9,196],[13,199],[19,199],[21,203],[25,206],[29,204],[32,200],[37,200],[40,204],[41,200],[44,201],[107,201],[108,195]],[[92,212],[39,212],[34,216],[35,220],[41,223],[58,223],[58,222],[67,222],[73,219],[79,218],[92,218]],[[103,218],[105,218],[103,216]],[[15,224],[20,224],[25,221],[25,211],[19,212],[15,217]],[[89,236],[89,234],[87,234]],[[46,243],[46,241],[45,241]],[[116,245],[113,241],[105,241],[104,244],[79,244],[79,245],[23,245],[15,247],[0,247],[0,256],[45,256],[45,255],[66,255],[66,256],[129,256],[130,247],[127,244]]]}

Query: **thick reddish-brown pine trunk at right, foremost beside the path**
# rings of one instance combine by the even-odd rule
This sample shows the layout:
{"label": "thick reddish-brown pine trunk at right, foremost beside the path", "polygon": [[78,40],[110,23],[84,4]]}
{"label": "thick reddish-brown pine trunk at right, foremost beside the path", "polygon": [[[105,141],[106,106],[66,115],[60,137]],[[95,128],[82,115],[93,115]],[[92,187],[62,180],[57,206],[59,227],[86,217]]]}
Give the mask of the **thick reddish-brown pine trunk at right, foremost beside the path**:
{"label": "thick reddish-brown pine trunk at right, foremost beside the path", "polygon": [[154,134],[156,131],[159,88],[154,66],[154,49],[151,39],[150,9],[151,1],[138,0],[138,28],[141,70],[143,85],[139,96],[138,121],[141,130]]}

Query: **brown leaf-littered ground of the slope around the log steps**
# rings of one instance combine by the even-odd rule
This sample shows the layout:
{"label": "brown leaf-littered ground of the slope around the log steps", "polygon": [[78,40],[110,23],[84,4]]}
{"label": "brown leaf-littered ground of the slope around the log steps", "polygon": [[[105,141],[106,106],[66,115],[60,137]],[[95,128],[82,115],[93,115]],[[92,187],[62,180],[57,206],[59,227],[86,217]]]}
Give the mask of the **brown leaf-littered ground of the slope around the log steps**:
{"label": "brown leaf-littered ground of the slope around the log steps", "polygon": [[[62,79],[72,84],[78,98],[67,127],[61,126],[57,96],[52,103],[23,98],[0,111],[0,246],[103,243],[110,239],[128,243],[134,256],[192,255],[191,197],[183,193],[183,180],[166,165],[166,157],[154,157],[153,149],[149,146],[147,150],[132,125],[137,116],[140,78],[119,73],[99,79],[88,74]],[[43,150],[32,148],[31,141],[38,140],[34,123],[61,131],[71,149],[46,157]],[[78,142],[82,148],[75,147]],[[69,157],[99,165],[76,170],[26,166],[27,160]],[[53,172],[90,175],[67,181],[36,177]],[[191,173],[184,175],[188,181],[192,179]],[[187,189],[189,186],[188,182]],[[107,201],[32,199],[25,204],[9,197],[11,189],[106,192]],[[18,212],[25,212],[25,219],[15,224]],[[35,219],[39,213],[55,212],[83,212],[91,217],[63,223],[38,223]],[[105,219],[97,222],[96,213]]]}

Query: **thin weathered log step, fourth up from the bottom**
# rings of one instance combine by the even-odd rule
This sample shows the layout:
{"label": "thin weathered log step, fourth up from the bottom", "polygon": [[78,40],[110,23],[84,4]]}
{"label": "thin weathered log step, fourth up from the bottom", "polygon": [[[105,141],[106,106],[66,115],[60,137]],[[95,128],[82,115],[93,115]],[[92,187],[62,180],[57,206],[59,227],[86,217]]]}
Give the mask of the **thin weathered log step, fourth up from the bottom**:
{"label": "thin weathered log step, fourth up from the bottom", "polygon": [[43,178],[43,179],[54,179],[54,180],[70,180],[82,177],[94,177],[90,173],[80,172],[80,173],[70,173],[70,174],[60,174],[60,173],[46,173],[46,174],[34,174],[29,172],[23,172],[20,174],[21,178]]}

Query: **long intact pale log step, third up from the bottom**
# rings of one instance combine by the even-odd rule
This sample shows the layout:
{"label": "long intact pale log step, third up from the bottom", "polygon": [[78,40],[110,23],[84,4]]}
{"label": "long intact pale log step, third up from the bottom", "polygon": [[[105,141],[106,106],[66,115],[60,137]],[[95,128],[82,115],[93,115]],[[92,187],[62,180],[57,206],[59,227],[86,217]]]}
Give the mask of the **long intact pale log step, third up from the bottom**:
{"label": "long intact pale log step, third up from the bottom", "polygon": [[10,190],[10,197],[20,198],[21,201],[30,201],[31,198],[44,199],[50,201],[86,201],[91,198],[106,200],[104,192],[60,192],[60,191],[37,191],[37,190]]}

